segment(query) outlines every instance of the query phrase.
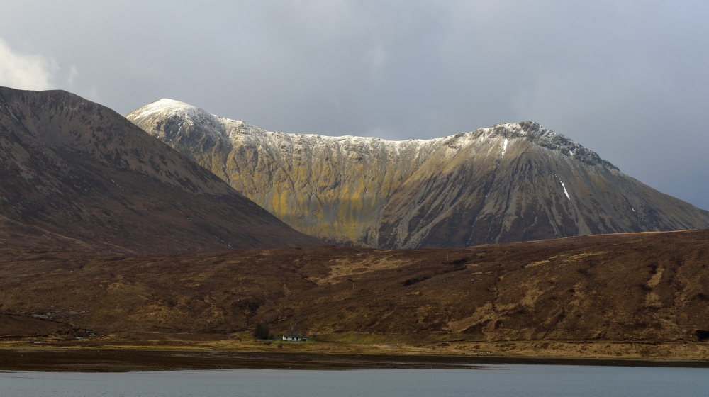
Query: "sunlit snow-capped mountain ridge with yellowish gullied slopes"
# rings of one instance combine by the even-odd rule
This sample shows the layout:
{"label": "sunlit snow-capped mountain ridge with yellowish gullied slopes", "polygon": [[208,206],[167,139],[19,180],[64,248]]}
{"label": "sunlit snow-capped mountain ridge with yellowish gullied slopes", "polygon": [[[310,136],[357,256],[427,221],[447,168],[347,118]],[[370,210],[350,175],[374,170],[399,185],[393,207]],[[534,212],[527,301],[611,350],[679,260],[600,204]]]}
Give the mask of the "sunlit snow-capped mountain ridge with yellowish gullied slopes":
{"label": "sunlit snow-capped mountain ridge with yellowish gullied slopes", "polygon": [[271,133],[169,99],[127,117],[285,223],[340,245],[709,228],[707,211],[533,122],[393,142]]}

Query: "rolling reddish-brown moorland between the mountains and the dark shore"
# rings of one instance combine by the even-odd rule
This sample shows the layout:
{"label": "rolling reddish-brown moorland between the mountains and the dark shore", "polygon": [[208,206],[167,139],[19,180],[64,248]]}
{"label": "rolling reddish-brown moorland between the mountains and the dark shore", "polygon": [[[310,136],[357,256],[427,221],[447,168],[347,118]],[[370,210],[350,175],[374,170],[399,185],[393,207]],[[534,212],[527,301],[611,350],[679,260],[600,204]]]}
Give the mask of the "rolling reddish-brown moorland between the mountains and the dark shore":
{"label": "rolling reddish-brown moorland between the mountains and the dark shore", "polygon": [[[5,247],[0,263],[8,348],[709,359],[709,230],[430,250]],[[252,340],[263,320],[311,340]]]}

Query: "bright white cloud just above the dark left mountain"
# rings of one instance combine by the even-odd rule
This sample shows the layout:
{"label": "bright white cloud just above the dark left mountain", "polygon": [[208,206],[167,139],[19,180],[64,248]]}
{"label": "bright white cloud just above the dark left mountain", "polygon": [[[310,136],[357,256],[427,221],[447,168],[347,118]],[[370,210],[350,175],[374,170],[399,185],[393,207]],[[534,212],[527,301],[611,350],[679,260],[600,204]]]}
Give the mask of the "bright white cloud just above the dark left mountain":
{"label": "bright white cloud just above the dark left mountain", "polygon": [[50,89],[55,62],[39,54],[15,52],[0,38],[0,86],[16,89]]}

